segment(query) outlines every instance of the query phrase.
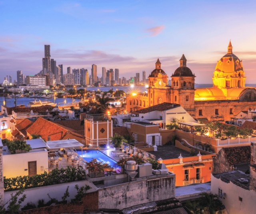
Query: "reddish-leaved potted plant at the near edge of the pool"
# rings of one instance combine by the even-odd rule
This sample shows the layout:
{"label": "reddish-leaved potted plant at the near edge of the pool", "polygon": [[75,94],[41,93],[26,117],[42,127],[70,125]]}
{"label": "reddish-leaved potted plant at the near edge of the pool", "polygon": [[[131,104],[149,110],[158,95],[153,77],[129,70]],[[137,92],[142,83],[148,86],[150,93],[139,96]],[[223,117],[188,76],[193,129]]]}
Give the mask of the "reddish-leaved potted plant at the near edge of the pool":
{"label": "reddish-leaved potted plant at the near edge of the pool", "polygon": [[90,178],[103,177],[105,176],[104,168],[109,168],[107,163],[97,161],[96,158],[92,159],[87,163],[87,169],[89,171]]}

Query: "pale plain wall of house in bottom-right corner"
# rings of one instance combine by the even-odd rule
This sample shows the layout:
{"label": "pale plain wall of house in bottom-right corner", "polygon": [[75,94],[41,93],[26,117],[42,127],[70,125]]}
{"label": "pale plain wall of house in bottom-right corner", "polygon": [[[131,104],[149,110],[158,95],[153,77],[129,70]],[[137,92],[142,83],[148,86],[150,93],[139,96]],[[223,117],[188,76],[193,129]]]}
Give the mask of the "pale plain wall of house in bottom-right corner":
{"label": "pale plain wall of house in bottom-right corner", "polygon": [[[232,182],[224,183],[221,179],[217,179],[211,175],[212,194],[218,194],[218,188],[222,189],[222,193],[225,192],[225,199],[222,198],[222,203],[225,205],[229,214],[256,213],[256,192],[253,190],[246,190],[242,187],[238,187]],[[242,198],[242,202],[239,201],[238,197]]]}

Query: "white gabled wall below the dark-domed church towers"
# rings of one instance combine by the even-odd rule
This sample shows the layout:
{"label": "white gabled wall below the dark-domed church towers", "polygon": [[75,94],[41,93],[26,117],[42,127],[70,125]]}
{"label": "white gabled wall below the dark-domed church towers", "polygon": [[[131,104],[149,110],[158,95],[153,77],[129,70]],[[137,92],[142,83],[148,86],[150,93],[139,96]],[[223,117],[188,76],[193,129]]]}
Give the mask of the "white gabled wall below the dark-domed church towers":
{"label": "white gabled wall below the dark-domed church towers", "polygon": [[[178,114],[180,112],[185,112],[185,113]],[[168,114],[168,113],[176,113],[176,114]],[[184,117],[184,119],[182,119],[182,117]],[[166,125],[171,124],[172,118],[176,118],[176,119],[178,119],[180,121],[184,121],[184,122],[196,122],[196,120],[194,120],[194,118],[192,118],[190,116],[190,114],[188,114],[188,112],[186,112],[186,110],[184,108],[182,108],[181,106],[165,111]],[[163,119],[164,119],[164,117],[163,117]]]}

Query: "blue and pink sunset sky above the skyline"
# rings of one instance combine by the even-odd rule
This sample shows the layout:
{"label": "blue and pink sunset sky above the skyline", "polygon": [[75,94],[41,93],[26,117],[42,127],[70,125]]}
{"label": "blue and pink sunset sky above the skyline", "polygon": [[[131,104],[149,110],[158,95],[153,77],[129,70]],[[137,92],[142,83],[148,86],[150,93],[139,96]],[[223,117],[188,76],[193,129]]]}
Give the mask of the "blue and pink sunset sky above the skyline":
{"label": "blue and pink sunset sky above the skyline", "polygon": [[168,77],[182,54],[196,83],[212,83],[217,61],[231,39],[246,83],[256,83],[256,1],[0,0],[0,82],[16,71],[42,70],[44,45],[56,64],[72,69],[97,65],[120,77],[146,75],[159,58]]}

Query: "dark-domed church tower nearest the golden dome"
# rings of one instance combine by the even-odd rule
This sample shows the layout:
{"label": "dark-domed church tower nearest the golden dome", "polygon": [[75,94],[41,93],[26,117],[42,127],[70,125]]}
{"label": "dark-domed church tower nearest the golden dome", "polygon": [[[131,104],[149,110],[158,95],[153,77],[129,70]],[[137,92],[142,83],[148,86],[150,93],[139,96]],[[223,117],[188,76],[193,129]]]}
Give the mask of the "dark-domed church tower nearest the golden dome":
{"label": "dark-domed church tower nearest the golden dome", "polygon": [[180,67],[172,75],[171,103],[180,104],[185,110],[193,111],[195,75],[187,67],[187,59],[182,55]]}

